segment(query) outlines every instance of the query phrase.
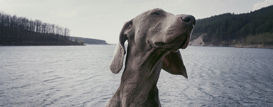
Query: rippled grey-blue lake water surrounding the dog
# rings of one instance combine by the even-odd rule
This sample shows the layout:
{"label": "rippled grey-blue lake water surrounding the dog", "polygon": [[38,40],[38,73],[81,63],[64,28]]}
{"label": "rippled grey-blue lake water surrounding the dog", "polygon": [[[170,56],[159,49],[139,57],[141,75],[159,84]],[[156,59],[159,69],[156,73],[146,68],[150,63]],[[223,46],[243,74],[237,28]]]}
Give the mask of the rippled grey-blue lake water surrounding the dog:
{"label": "rippled grey-blue lake water surrounding the dog", "polygon": [[[116,45],[0,46],[0,106],[105,106]],[[273,106],[273,49],[189,46],[189,79],[161,71],[162,106]]]}

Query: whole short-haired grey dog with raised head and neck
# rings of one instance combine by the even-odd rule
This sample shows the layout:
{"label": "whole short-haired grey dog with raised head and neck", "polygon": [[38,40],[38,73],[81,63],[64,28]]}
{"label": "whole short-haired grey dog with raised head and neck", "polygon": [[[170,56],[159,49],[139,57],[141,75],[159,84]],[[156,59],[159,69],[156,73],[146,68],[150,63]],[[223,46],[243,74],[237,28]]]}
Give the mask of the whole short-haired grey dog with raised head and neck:
{"label": "whole short-haired grey dog with raised head and neck", "polygon": [[160,70],[188,78],[179,49],[188,46],[194,25],[192,15],[173,15],[162,9],[125,22],[109,69],[113,73],[122,69],[128,40],[125,68],[120,86],[106,106],[161,106],[156,86]]}

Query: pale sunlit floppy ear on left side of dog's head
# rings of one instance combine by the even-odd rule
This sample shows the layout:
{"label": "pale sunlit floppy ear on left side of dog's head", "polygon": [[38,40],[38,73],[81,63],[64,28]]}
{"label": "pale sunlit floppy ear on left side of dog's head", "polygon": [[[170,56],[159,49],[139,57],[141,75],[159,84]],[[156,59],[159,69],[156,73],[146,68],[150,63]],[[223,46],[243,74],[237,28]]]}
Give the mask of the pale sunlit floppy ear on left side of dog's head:
{"label": "pale sunlit floppy ear on left side of dog's head", "polygon": [[109,69],[112,71],[112,73],[119,73],[122,69],[124,55],[126,54],[124,42],[128,40],[127,34],[124,34],[124,32],[126,29],[128,29],[128,27],[131,27],[131,25],[132,20],[125,22],[120,31],[119,42],[115,48],[113,59],[109,64]]}

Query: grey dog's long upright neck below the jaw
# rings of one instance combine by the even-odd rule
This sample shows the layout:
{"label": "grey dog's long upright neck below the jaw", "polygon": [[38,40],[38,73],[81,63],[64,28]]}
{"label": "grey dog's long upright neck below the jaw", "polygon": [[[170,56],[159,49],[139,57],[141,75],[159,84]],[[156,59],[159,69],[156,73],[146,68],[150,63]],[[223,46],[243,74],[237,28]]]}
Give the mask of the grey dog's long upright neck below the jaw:
{"label": "grey dog's long upright neck below the jaw", "polygon": [[136,50],[133,46],[128,44],[125,68],[117,91],[122,106],[161,106],[156,84],[166,52]]}

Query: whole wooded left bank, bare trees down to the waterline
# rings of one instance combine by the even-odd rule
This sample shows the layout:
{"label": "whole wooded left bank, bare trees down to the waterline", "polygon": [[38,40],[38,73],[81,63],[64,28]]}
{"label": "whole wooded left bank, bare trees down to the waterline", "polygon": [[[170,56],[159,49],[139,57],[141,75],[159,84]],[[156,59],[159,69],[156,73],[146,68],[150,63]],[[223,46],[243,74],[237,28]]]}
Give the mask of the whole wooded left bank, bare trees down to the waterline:
{"label": "whole wooded left bank, bare trees down to the waterline", "polygon": [[69,36],[68,28],[0,12],[0,45],[77,45]]}

